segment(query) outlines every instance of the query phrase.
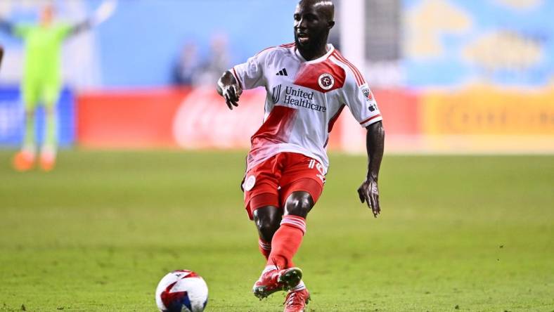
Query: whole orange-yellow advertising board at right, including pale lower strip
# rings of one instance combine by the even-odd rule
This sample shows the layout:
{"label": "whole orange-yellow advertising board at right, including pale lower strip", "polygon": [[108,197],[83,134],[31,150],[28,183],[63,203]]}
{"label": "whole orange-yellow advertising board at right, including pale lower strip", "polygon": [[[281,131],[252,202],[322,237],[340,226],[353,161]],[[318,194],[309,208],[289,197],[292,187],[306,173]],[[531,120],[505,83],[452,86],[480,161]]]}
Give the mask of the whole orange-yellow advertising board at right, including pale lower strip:
{"label": "whole orange-yellow advertising board at right, including pale lower strip", "polygon": [[554,152],[554,89],[475,86],[421,97],[427,149]]}

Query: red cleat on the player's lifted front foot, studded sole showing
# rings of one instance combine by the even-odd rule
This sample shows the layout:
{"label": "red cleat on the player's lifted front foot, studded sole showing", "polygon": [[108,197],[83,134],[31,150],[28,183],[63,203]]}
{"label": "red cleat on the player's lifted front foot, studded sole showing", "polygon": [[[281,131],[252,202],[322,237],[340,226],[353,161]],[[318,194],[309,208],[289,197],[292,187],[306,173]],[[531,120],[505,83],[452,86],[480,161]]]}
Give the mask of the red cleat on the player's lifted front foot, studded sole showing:
{"label": "red cleat on the player's lifted front foot, studded sole showing", "polygon": [[285,268],[265,271],[252,287],[252,292],[260,300],[268,297],[273,292],[290,290],[302,280],[302,270],[299,268]]}

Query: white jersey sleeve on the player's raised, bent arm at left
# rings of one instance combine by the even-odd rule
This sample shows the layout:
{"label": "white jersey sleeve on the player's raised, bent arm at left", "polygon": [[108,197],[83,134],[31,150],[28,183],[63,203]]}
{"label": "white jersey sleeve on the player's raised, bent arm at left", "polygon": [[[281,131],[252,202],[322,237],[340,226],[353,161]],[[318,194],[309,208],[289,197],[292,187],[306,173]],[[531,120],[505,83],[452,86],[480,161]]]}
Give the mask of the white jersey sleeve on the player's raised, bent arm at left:
{"label": "white jersey sleeve on the player's raised, bent arm at left", "polygon": [[269,50],[271,49],[266,49],[256,56],[249,58],[246,63],[231,68],[231,73],[235,76],[242,89],[254,89],[266,84],[264,69]]}

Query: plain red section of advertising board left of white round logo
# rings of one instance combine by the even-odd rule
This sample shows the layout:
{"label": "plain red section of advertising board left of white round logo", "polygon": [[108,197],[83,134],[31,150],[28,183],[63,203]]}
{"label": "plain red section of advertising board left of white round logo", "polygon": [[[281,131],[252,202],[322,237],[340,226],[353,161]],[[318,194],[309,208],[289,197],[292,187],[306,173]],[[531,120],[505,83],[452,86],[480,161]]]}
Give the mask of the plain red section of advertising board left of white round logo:
{"label": "plain red section of advertising board left of white round logo", "polygon": [[87,148],[176,147],[172,119],[188,89],[86,92],[77,97],[77,143]]}

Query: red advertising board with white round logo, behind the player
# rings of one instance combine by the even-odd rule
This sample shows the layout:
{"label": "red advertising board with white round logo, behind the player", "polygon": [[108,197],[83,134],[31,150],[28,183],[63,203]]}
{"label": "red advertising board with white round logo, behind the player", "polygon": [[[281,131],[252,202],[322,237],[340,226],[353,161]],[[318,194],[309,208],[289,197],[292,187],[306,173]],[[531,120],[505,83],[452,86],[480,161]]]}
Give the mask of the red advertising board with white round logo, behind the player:
{"label": "red advertising board with white round logo, behind the player", "polygon": [[[420,132],[416,95],[401,90],[373,93],[387,135]],[[264,98],[262,89],[247,91],[239,107],[230,111],[213,89],[86,92],[77,97],[77,142],[86,148],[249,148],[250,136],[262,124]],[[356,138],[345,131],[363,132],[348,115],[344,110],[333,129],[330,149],[341,149],[345,138]]]}

